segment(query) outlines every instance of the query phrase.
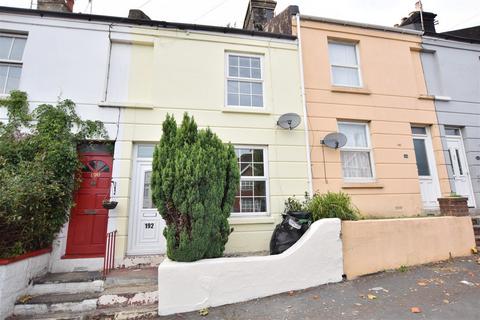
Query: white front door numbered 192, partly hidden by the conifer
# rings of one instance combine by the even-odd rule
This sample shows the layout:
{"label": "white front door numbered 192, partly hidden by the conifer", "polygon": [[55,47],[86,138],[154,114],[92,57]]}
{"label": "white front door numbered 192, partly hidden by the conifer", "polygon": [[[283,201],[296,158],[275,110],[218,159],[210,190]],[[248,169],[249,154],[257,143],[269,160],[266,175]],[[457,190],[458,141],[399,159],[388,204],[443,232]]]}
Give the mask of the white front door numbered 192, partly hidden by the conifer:
{"label": "white front door numbered 192, partly hidden by the conifer", "polygon": [[164,254],[166,251],[166,241],[163,236],[165,221],[152,202],[150,186],[153,146],[139,145],[135,149],[128,254]]}

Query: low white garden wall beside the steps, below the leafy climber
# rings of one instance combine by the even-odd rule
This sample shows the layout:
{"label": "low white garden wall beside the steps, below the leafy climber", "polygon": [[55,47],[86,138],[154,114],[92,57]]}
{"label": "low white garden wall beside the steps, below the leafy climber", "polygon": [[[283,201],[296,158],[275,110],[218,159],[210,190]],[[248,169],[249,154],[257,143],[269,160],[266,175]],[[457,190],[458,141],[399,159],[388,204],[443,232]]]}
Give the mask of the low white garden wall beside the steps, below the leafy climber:
{"label": "low white garden wall beside the steps, below the leafy climber", "polygon": [[50,253],[0,265],[0,319],[13,312],[18,297],[26,294],[32,278],[48,271]]}

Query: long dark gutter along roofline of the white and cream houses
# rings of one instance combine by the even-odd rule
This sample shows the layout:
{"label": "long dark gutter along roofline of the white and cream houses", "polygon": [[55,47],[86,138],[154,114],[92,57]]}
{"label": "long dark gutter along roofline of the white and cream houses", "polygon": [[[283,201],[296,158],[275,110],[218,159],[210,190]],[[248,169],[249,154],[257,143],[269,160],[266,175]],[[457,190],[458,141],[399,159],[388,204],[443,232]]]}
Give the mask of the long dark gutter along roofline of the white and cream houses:
{"label": "long dark gutter along roofline of the white and cream houses", "polygon": [[115,24],[149,26],[149,27],[157,27],[157,28],[165,28],[165,29],[209,31],[209,32],[224,33],[224,34],[229,33],[229,34],[246,35],[246,36],[252,36],[252,37],[263,37],[263,38],[274,38],[274,39],[285,39],[285,40],[296,40],[297,38],[295,36],[282,34],[282,33],[244,30],[244,29],[238,29],[238,28],[228,28],[228,27],[209,26],[209,25],[190,24],[190,23],[178,23],[178,22],[168,22],[168,21],[157,21],[157,20],[131,19],[131,18],[123,18],[123,17],[96,15],[96,14],[32,10],[32,9],[5,7],[5,6],[0,6],[0,13],[23,14],[23,15],[30,15],[30,16],[53,17],[53,18],[84,20],[84,21],[92,21],[92,22],[98,21],[98,22],[107,22],[107,23],[115,23]]}

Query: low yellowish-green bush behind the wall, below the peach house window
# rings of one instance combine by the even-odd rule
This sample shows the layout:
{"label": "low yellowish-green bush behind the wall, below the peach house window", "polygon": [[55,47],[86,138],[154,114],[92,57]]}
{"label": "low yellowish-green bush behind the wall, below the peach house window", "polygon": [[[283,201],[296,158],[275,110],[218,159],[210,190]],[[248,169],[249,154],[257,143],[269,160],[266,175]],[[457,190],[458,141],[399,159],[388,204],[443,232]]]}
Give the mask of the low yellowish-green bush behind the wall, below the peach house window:
{"label": "low yellowish-green bush behind the wall, below the peach house window", "polygon": [[339,218],[341,220],[358,220],[360,213],[353,205],[348,194],[343,192],[327,192],[313,195],[308,209],[313,220],[324,218]]}

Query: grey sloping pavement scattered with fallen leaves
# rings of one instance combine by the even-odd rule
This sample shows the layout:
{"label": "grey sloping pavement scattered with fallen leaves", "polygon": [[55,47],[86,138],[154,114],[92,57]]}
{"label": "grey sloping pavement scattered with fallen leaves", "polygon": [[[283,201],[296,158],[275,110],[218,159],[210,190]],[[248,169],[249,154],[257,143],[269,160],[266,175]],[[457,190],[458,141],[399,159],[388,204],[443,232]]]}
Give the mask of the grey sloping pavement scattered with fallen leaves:
{"label": "grey sloping pavement scattered with fallen leaves", "polygon": [[[206,316],[192,312],[158,319],[478,320],[479,259],[479,255],[473,255],[381,272],[337,284],[209,308]],[[294,271],[285,270],[285,276],[290,272]]]}

